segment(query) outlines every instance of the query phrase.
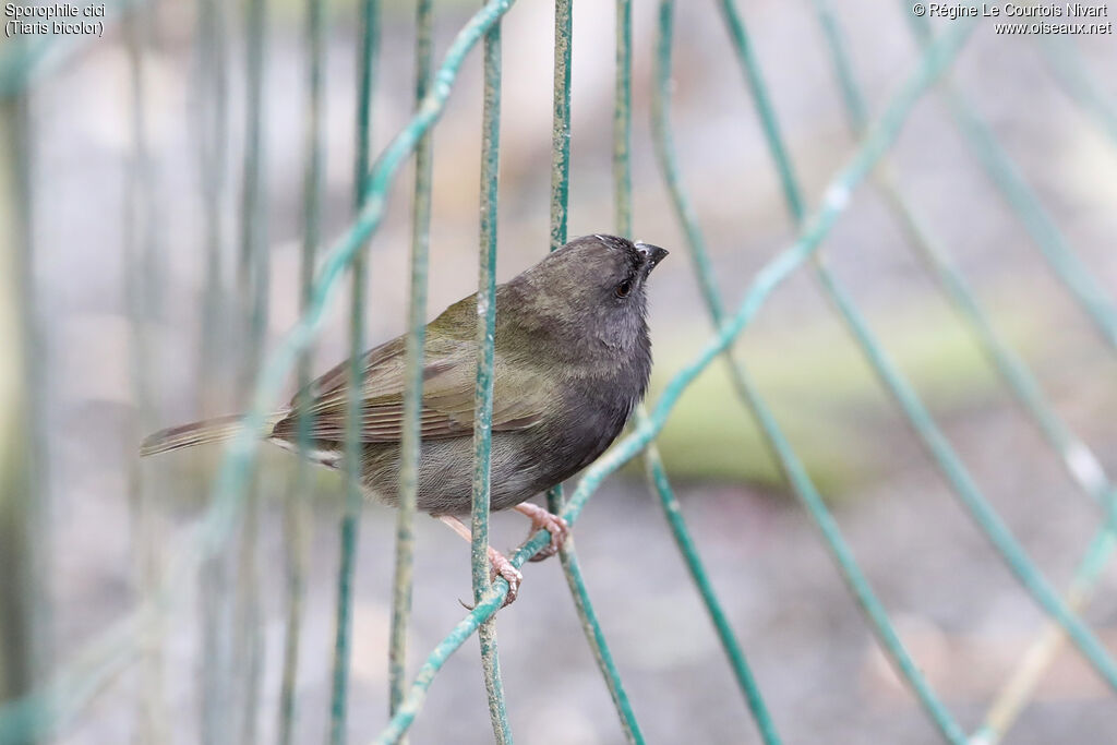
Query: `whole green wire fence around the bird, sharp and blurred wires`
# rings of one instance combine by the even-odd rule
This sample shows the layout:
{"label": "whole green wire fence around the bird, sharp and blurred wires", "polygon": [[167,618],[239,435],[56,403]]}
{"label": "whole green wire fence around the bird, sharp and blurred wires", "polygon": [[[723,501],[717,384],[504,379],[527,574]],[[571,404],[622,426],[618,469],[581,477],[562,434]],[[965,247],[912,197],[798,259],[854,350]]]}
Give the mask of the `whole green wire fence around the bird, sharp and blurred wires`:
{"label": "whole green wire fence around the bird, sharp and blurred wires", "polygon": [[[551,178],[551,241],[554,250],[565,242],[567,203],[570,195],[571,144],[571,65],[572,65],[572,1],[555,1],[555,57],[554,108],[552,131]],[[1095,633],[1079,617],[1101,569],[1113,553],[1117,541],[1111,531],[1117,518],[1117,489],[1106,474],[1100,459],[1056,411],[1040,383],[1020,355],[996,329],[983,309],[965,277],[952,260],[949,252],[918,214],[911,200],[905,197],[899,178],[888,163],[888,151],[896,141],[908,114],[920,98],[938,85],[952,116],[977,162],[1002,192],[1024,228],[1040,248],[1053,273],[1065,284],[1068,293],[1083,313],[1098,327],[1104,338],[1117,345],[1117,306],[1104,287],[1094,278],[1086,265],[1073,252],[1054,220],[1019,174],[1009,155],[1000,147],[992,130],[976,114],[958,86],[949,80],[949,67],[974,29],[974,22],[960,19],[938,36],[930,34],[923,19],[910,16],[908,3],[903,12],[908,16],[920,57],[917,66],[891,97],[879,117],[871,120],[865,97],[857,82],[842,30],[828,0],[811,0],[817,20],[823,32],[831,57],[836,80],[849,118],[850,130],[857,139],[855,155],[840,169],[813,211],[799,184],[787,147],[784,144],[774,107],[767,93],[765,77],[751,44],[745,18],[734,0],[719,0],[718,9],[734,52],[741,65],[748,92],[754,101],[761,128],[779,175],[787,210],[798,230],[792,246],[775,255],[754,277],[744,297],[735,307],[727,307],[717,289],[714,268],[708,256],[704,232],[684,185],[679,159],[671,126],[671,61],[675,27],[674,0],[660,0],[657,15],[655,45],[655,74],[652,90],[652,133],[655,152],[668,188],[672,208],[686,237],[695,276],[701,289],[706,308],[714,327],[714,335],[701,352],[677,371],[660,398],[649,410],[641,408],[634,417],[631,431],[601,459],[591,466],[570,498],[561,489],[548,494],[552,512],[574,524],[589,499],[603,480],[626,462],[642,456],[648,471],[649,487],[661,504],[672,537],[689,571],[700,599],[710,617],[718,639],[745,704],[764,743],[780,743],[779,723],[770,714],[762,695],[763,681],[753,675],[743,646],[726,615],[714,583],[705,570],[698,543],[691,536],[680,503],[670,486],[667,472],[656,448],[656,438],[663,429],[684,391],[717,360],[724,361],[731,373],[735,391],[755,418],[776,462],[808,516],[819,529],[827,551],[834,561],[841,577],[856,599],[866,621],[876,634],[888,659],[911,689],[915,698],[936,727],[941,737],[949,743],[994,743],[1008,732],[1012,722],[1027,704],[1031,691],[1065,640],[1069,640],[1110,687],[1117,689],[1117,662],[1100,643]],[[350,376],[350,417],[346,429],[346,499],[341,524],[341,562],[337,575],[336,627],[333,660],[332,694],[330,706],[330,742],[346,742],[346,711],[350,708],[350,655],[352,640],[353,585],[359,545],[361,491],[359,487],[360,452],[360,389],[362,369],[360,355],[365,346],[365,317],[369,298],[365,297],[366,247],[384,216],[388,190],[399,178],[400,171],[413,157],[414,189],[411,221],[411,258],[409,285],[409,314],[407,336],[407,392],[405,426],[400,466],[400,506],[397,523],[395,569],[391,643],[389,652],[389,713],[390,722],[375,738],[378,743],[397,743],[419,715],[428,690],[447,659],[472,634],[478,633],[481,650],[481,669],[487,691],[494,737],[498,743],[513,742],[508,724],[504,687],[498,658],[496,612],[508,592],[507,583],[489,579],[488,495],[490,479],[490,428],[493,411],[493,340],[495,329],[495,267],[497,256],[497,194],[499,164],[502,46],[500,20],[513,6],[513,0],[488,0],[454,38],[440,65],[433,60],[432,25],[433,3],[417,0],[414,114],[380,151],[373,162],[372,112],[376,73],[380,69],[380,3],[363,0],[359,7],[361,19],[357,56],[357,143],[355,213],[350,227],[330,247],[318,262],[317,254],[322,233],[322,191],[325,159],[324,95],[325,95],[325,8],[324,0],[307,0],[306,46],[308,56],[308,103],[306,107],[306,143],[304,175],[303,252],[300,316],[292,331],[284,336],[270,354],[262,351],[262,324],[268,302],[268,257],[262,219],[264,168],[266,153],[261,150],[265,126],[262,102],[262,69],[267,55],[266,0],[247,3],[245,29],[246,46],[246,112],[248,131],[244,163],[244,191],[241,193],[241,250],[238,265],[240,278],[240,308],[245,321],[247,344],[244,353],[245,388],[250,393],[251,407],[245,417],[246,427],[229,445],[220,471],[213,484],[211,502],[204,516],[194,525],[187,543],[173,553],[173,561],[156,581],[150,571],[139,576],[145,589],[146,600],[125,619],[113,625],[82,655],[63,666],[49,680],[37,688],[25,680],[17,690],[20,696],[0,709],[0,744],[16,744],[49,736],[65,723],[78,716],[89,700],[128,666],[143,659],[153,649],[152,641],[163,633],[163,622],[181,602],[179,589],[199,571],[217,584],[211,584],[210,600],[203,610],[203,738],[217,742],[237,732],[239,742],[255,742],[256,711],[260,696],[260,599],[257,576],[257,534],[259,506],[255,498],[254,470],[259,441],[257,433],[265,424],[268,412],[275,409],[278,395],[292,370],[296,370],[302,389],[309,380],[311,352],[322,328],[325,311],[346,277],[352,281],[350,314],[350,350],[353,354]],[[633,235],[632,175],[630,143],[632,132],[632,3],[617,0],[615,86],[613,111],[613,189],[614,229],[619,235]],[[132,18],[143,7],[118,7],[117,13]],[[226,130],[228,127],[228,85],[225,59],[229,40],[222,30],[225,11],[220,3],[202,0],[199,12],[199,38],[203,66],[200,85],[212,101],[209,117],[200,124],[199,154],[207,174],[208,267],[203,324],[210,332],[203,334],[201,361],[203,369],[216,359],[220,347],[212,340],[219,338],[216,329],[229,298],[219,289],[218,267],[221,254],[220,223],[223,220],[221,199],[228,191],[223,184],[221,164],[226,161]],[[139,42],[136,26],[130,26],[131,59],[135,70],[143,64],[144,50]],[[77,42],[68,42],[63,51]],[[427,277],[429,271],[428,243],[431,221],[430,133],[441,116],[457,76],[469,52],[484,46],[484,101],[483,150],[480,169],[480,235],[478,264],[478,325],[474,427],[474,480],[470,551],[474,608],[423,659],[417,675],[407,676],[408,628],[410,625],[411,588],[413,576],[416,494],[418,459],[420,452],[419,416],[422,390],[423,323],[427,314]],[[23,106],[34,95],[34,80],[42,74],[44,60],[59,56],[48,39],[25,39],[0,57],[0,102],[2,102],[4,152],[22,152],[28,136],[23,126]],[[1101,130],[1117,142],[1117,115],[1096,80],[1090,77],[1068,42],[1047,41],[1043,52],[1060,83],[1071,98],[1078,102]],[[142,97],[142,75],[134,70],[137,98]],[[137,112],[142,111],[140,108]],[[141,114],[136,114],[140,116]],[[142,120],[135,130],[135,183],[143,183],[143,164],[149,145],[143,141]],[[7,181],[22,185],[27,194],[25,165],[8,157]],[[1023,410],[1034,421],[1048,445],[1061,457],[1078,488],[1099,508],[1100,527],[1087,548],[1076,571],[1071,586],[1065,595],[1056,592],[1033,561],[1011,534],[996,512],[971,477],[963,459],[943,434],[922,402],[913,385],[899,372],[887,351],[872,333],[853,298],[828,269],[822,252],[827,238],[848,204],[851,193],[866,181],[884,195],[918,258],[942,286],[956,307],[961,318],[973,332],[975,342],[989,356],[1005,385]],[[27,204],[22,214],[30,214]],[[145,218],[150,220],[150,216]],[[130,225],[143,225],[141,218],[128,218]],[[149,226],[150,227],[150,226]],[[29,238],[20,236],[10,240],[22,241],[18,247],[29,256]],[[133,238],[130,246],[139,246],[143,238]],[[541,251],[543,248],[541,247]],[[143,259],[133,250],[130,260]],[[911,657],[897,633],[888,612],[860,569],[852,551],[827,508],[822,495],[787,436],[750,376],[734,342],[752,323],[767,298],[800,269],[811,271],[819,280],[823,294],[831,302],[840,319],[850,331],[853,341],[870,363],[884,388],[896,403],[938,466],[943,477],[984,533],[995,551],[1048,617],[1033,644],[1021,658],[1004,689],[990,708],[985,722],[973,735],[967,735],[955,714],[947,708],[925,676],[918,661]],[[130,305],[140,313],[151,305],[136,302]],[[28,315],[25,313],[25,315]],[[142,342],[142,340],[140,340]],[[141,345],[142,348],[142,345]],[[258,371],[258,372],[257,372]],[[150,399],[147,383],[141,375],[136,380],[139,399]],[[203,386],[203,409],[212,407],[212,388],[217,381]],[[299,449],[308,448],[309,422],[306,417],[298,424]],[[279,739],[294,742],[296,716],[295,680],[299,666],[303,608],[306,595],[307,535],[306,496],[312,484],[308,467],[300,459],[293,488],[285,502],[284,529],[287,537],[287,617],[286,644],[283,655],[281,690],[279,696]],[[135,494],[141,494],[136,491]],[[142,494],[141,494],[142,496]],[[7,504],[7,503],[4,503]],[[140,537],[146,519],[142,502],[134,503],[135,528]],[[34,520],[25,517],[21,519]],[[30,525],[30,522],[27,523]],[[240,554],[236,573],[230,574],[229,548],[232,538],[241,533]],[[531,536],[510,557],[522,566],[550,542],[545,531]],[[147,555],[151,544],[137,544],[137,555]],[[577,561],[573,539],[560,552],[561,564],[571,590],[574,606],[586,640],[601,669],[609,694],[618,713],[626,739],[643,743],[645,736],[629,700],[620,672],[610,652],[598,614],[590,600],[585,576]],[[143,560],[149,561],[149,560]],[[141,569],[144,564],[140,564]],[[26,567],[20,567],[26,572]],[[7,575],[4,579],[8,579]],[[222,593],[214,588],[235,582],[238,588],[235,609],[236,623],[227,618],[230,609],[223,608]],[[6,585],[7,586],[7,585]],[[221,601],[221,602],[218,602]],[[26,620],[25,620],[26,621]],[[230,638],[228,629],[233,628]],[[241,656],[233,660],[231,656]],[[232,681],[230,667],[245,671],[244,680]],[[228,690],[232,685],[236,691]],[[155,688],[157,690],[157,688]],[[222,700],[228,694],[237,696],[240,719],[227,720],[229,707]],[[151,694],[157,698],[157,694]],[[152,704],[151,711],[155,711]],[[237,729],[232,729],[237,727]],[[152,730],[153,732],[153,730]]]}

